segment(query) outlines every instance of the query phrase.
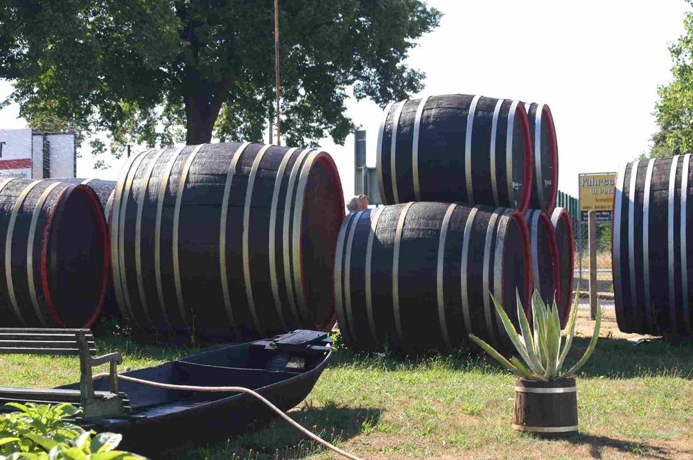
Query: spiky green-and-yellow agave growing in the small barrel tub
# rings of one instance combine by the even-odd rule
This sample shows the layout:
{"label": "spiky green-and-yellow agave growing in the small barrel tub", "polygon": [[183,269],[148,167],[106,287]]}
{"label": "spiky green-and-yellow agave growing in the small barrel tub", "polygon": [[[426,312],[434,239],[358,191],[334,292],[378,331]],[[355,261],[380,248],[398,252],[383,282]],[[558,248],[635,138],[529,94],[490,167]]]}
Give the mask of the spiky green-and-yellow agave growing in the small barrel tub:
{"label": "spiky green-and-yellow agave growing in the small barrel tub", "polygon": [[[534,297],[532,298],[532,316],[534,320],[532,329],[529,328],[529,321],[527,321],[527,316],[525,315],[525,310],[523,310],[519,294],[517,296],[518,320],[520,322],[521,333],[515,330],[515,326],[512,324],[512,321],[510,321],[505,310],[500,306],[500,303],[493,299],[493,304],[502,320],[510,341],[515,346],[526,365],[518,360],[517,357],[511,357],[510,360],[507,360],[503,355],[498,353],[498,351],[495,351],[492,346],[473,334],[470,334],[469,337],[475,344],[483,348],[486,353],[489,353],[489,355],[498,360],[500,364],[520,378],[544,381],[571,378],[582,366],[584,366],[595,349],[597,338],[599,338],[599,328],[602,325],[601,306],[597,307],[595,330],[585,354],[574,366],[568,369],[568,371],[563,372],[563,362],[568,355],[568,351],[570,351],[572,337],[575,334],[577,296],[575,296],[572,312],[570,312],[570,321],[568,322],[565,335],[561,333],[561,321],[559,319],[559,310],[558,307],[556,307],[556,302],[554,301],[553,304],[544,303],[538,292],[534,292]],[[565,339],[565,342],[563,342],[563,339]]]}

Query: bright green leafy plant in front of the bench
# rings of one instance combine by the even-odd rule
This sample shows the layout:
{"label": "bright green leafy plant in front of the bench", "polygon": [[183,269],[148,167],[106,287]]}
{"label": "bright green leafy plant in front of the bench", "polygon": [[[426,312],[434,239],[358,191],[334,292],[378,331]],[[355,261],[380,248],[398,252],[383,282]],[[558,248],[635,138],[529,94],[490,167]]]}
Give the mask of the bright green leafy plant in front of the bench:
{"label": "bright green leafy plant in front of the bench", "polygon": [[0,414],[0,460],[137,460],[115,450],[123,436],[96,434],[66,420],[80,409],[70,404],[8,403],[18,412]]}

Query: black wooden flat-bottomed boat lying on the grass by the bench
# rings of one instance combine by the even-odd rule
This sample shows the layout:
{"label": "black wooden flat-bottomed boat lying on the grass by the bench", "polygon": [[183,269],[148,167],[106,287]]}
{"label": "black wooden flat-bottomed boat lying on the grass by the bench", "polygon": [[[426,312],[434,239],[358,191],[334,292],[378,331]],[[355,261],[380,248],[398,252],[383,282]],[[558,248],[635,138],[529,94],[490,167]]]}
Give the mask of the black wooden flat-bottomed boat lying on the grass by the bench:
{"label": "black wooden flat-bottomed boat lying on the grass by the bench", "polygon": [[[331,355],[326,333],[297,330],[272,339],[226,346],[181,360],[123,375],[179,385],[246,387],[284,412],[301,403],[313,389]],[[79,384],[60,387],[78,389]],[[108,391],[108,379],[94,382]],[[249,424],[276,416],[245,393],[209,393],[159,389],[121,380],[119,391],[130,400],[130,414],[80,422],[98,432],[123,434],[120,448],[148,457],[225,439]]]}

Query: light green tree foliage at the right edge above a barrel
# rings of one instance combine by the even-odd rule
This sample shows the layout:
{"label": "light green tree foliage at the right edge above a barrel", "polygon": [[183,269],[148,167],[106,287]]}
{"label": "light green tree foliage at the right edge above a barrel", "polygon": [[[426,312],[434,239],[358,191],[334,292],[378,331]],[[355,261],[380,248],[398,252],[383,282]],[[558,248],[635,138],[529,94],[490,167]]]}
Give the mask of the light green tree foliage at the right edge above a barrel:
{"label": "light green tree foliage at the right edge above a barrel", "polygon": [[[693,0],[687,1],[693,6]],[[674,79],[657,91],[660,100],[654,115],[659,131],[652,136],[650,158],[693,152],[693,12],[686,13],[683,26],[684,33],[669,46]]]}

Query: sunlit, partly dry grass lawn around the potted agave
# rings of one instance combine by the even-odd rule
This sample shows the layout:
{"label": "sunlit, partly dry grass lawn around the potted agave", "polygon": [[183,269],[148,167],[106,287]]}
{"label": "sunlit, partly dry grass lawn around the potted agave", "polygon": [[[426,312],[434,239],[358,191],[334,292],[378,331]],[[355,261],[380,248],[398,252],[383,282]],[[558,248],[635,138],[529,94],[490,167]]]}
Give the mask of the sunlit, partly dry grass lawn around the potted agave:
{"label": "sunlit, partly dry grass lawn around the potted agave", "polygon": [[[591,331],[580,311],[573,360]],[[364,459],[693,459],[693,344],[634,344],[605,312],[602,337],[578,380],[579,436],[536,439],[511,430],[514,378],[481,355],[419,360],[335,352],[291,416]],[[98,337],[98,335],[97,335]],[[190,349],[99,342],[132,369]],[[51,387],[78,379],[72,357],[0,355],[0,385]],[[233,382],[229,382],[232,384]],[[184,459],[333,459],[282,421],[185,452]]]}

